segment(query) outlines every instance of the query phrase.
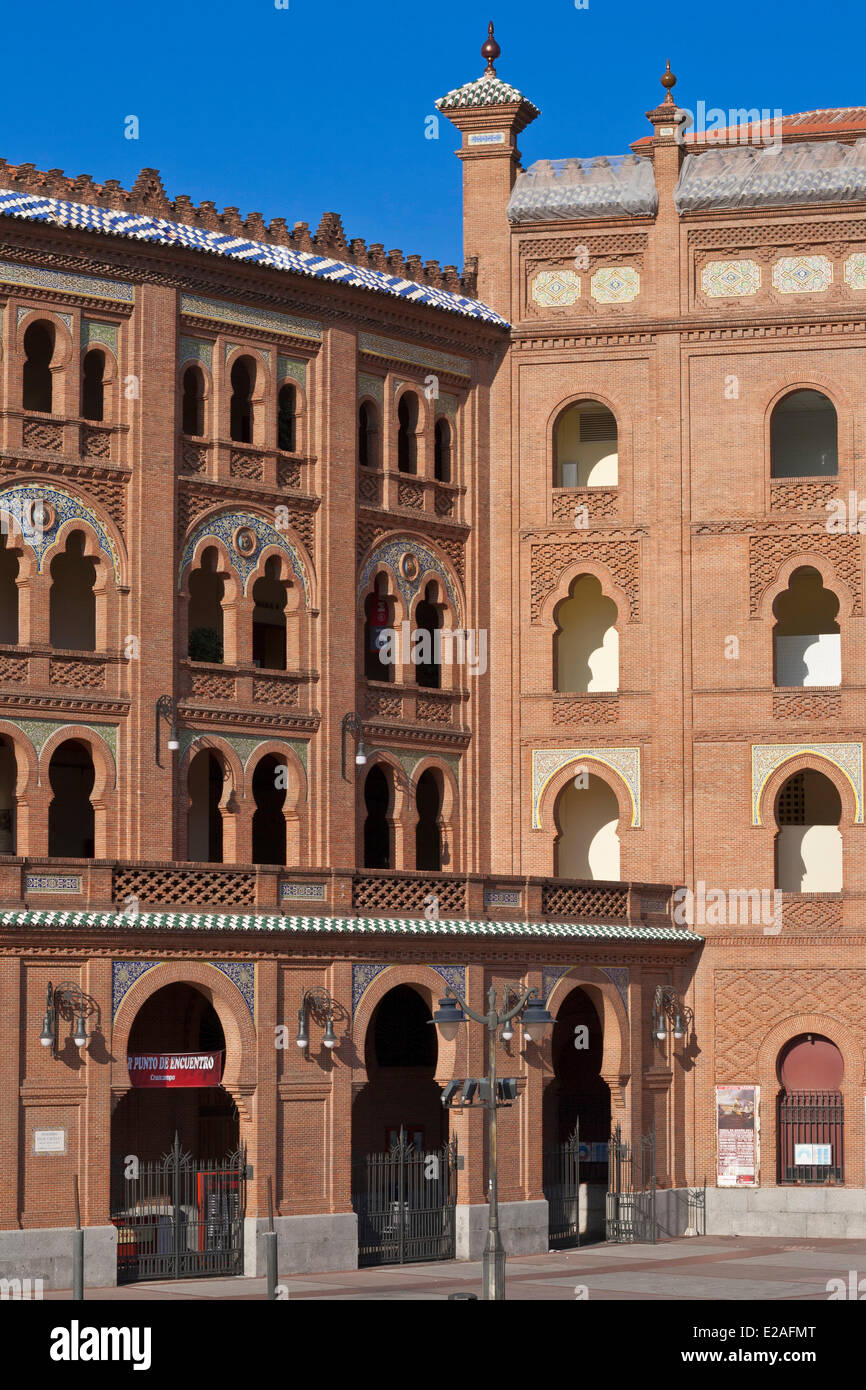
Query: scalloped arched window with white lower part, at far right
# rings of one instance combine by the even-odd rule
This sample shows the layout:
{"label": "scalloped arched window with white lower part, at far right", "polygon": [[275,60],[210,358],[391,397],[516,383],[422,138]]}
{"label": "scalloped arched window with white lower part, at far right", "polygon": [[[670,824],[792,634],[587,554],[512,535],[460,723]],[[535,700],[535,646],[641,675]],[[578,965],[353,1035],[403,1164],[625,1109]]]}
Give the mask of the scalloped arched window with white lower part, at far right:
{"label": "scalloped arched window with white lower part, at far right", "polygon": [[776,685],[841,685],[842,648],[835,616],[840,600],[817,570],[795,570],[773,605]]}

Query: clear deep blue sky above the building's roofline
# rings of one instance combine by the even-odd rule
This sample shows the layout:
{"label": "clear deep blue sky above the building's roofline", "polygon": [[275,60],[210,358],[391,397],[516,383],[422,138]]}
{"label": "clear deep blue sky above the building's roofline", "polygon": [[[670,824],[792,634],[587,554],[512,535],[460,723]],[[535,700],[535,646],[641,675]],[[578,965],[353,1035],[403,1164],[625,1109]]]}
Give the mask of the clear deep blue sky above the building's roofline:
{"label": "clear deep blue sky above the building's roofline", "polygon": [[[7,7],[0,154],[128,185],[156,167],[189,193],[289,225],[338,211],[349,236],[461,264],[457,132],[424,138],[434,99],[498,71],[542,115],[524,164],[617,154],[648,133],[670,56],[696,107],[866,103],[853,0],[42,0]],[[139,117],[140,138],[124,138]]]}

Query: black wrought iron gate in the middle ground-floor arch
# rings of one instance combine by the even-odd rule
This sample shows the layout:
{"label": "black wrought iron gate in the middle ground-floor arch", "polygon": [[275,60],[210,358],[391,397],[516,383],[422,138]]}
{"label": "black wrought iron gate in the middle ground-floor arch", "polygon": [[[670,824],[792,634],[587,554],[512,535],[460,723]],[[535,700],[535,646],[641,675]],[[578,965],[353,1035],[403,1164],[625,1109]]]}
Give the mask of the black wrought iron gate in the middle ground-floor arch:
{"label": "black wrought iron gate in the middle ground-floor arch", "polygon": [[416,1151],[400,1129],[388,1154],[353,1165],[359,1265],[407,1265],[453,1259],[457,1205],[457,1140]]}

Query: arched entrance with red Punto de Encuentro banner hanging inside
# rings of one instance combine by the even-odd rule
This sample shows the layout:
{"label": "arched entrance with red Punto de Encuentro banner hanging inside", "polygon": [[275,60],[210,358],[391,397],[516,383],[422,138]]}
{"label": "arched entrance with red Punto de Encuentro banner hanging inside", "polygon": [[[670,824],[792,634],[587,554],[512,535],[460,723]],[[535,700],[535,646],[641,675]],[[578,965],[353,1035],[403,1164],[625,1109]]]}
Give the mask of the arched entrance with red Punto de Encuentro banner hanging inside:
{"label": "arched entrance with red Punto de Encuentro banner hanging inside", "polygon": [[242,1273],[246,1158],[207,995],[181,981],[152,994],[126,1062],[132,1084],[111,1118],[118,1282]]}

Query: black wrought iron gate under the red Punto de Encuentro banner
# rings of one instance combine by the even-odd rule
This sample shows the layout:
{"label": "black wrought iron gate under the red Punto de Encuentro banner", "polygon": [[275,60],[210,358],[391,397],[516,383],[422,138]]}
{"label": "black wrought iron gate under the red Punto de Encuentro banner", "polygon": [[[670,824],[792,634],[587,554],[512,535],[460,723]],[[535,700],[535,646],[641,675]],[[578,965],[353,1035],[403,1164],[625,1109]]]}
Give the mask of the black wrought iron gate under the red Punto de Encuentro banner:
{"label": "black wrought iron gate under the red Punto de Encuentro banner", "polygon": [[118,1283],[243,1273],[246,1151],[193,1159],[178,1136],[114,1184]]}

